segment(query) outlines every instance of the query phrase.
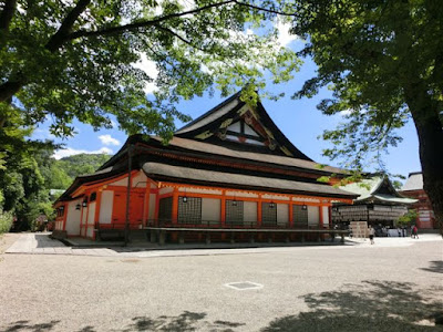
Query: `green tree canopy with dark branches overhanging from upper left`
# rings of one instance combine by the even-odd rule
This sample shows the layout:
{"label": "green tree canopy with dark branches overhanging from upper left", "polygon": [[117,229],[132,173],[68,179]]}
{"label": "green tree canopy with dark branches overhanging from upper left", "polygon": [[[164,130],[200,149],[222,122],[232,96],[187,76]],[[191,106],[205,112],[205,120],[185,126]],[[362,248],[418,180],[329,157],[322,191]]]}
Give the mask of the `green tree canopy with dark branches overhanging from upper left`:
{"label": "green tree canopy with dark branches overhanging from upper left", "polygon": [[[185,4],[192,3],[192,8]],[[291,79],[293,52],[275,45],[266,25],[272,1],[4,0],[0,8],[0,103],[14,103],[29,125],[50,117],[51,131],[70,135],[74,118],[110,127],[113,114],[130,134],[172,136],[175,104],[218,85],[265,84],[264,69]],[[260,34],[246,33],[247,28]],[[158,72],[134,63],[146,58]],[[146,83],[156,91],[146,97]],[[7,114],[0,114],[0,128]]]}

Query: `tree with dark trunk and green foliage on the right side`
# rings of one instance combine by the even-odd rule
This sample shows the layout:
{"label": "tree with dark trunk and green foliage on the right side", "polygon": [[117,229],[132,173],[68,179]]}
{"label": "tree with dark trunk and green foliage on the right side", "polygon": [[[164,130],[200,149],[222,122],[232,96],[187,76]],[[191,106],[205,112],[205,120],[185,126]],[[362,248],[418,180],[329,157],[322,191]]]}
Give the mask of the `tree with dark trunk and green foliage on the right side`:
{"label": "tree with dark trunk and green foliage on the right side", "polygon": [[301,55],[318,64],[295,97],[329,86],[324,114],[346,111],[347,123],[327,131],[324,153],[362,169],[365,158],[401,137],[412,117],[424,189],[443,234],[443,10],[435,0],[295,1],[292,33],[308,40]]}

